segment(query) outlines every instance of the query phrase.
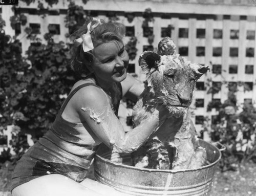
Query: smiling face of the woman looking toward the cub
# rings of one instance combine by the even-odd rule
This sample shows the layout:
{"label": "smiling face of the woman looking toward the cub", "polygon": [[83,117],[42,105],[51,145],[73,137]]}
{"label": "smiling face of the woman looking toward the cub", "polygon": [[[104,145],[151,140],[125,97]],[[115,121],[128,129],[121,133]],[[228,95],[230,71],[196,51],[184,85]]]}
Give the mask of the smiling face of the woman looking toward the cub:
{"label": "smiling face of the woman looking toward the cub", "polygon": [[129,56],[123,43],[110,41],[94,48],[92,69],[97,79],[105,82],[121,82],[126,78]]}

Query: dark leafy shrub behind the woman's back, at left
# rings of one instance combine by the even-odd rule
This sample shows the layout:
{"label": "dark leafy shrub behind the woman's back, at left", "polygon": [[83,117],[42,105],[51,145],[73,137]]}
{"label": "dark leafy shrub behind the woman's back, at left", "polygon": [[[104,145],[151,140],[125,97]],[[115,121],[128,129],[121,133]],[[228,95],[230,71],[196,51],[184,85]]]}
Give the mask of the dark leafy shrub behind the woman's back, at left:
{"label": "dark leafy shrub behind the woman's back, at left", "polygon": [[36,140],[47,132],[75,78],[66,43],[38,40],[23,57],[19,40],[0,36],[0,124],[2,131],[15,125],[11,145],[18,155],[28,148],[25,133]]}

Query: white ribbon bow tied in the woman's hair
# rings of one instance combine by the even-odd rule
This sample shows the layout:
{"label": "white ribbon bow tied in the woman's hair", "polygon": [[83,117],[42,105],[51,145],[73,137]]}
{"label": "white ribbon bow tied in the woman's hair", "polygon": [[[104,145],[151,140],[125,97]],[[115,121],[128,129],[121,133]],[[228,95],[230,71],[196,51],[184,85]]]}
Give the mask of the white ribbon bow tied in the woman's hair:
{"label": "white ribbon bow tied in the woman's hair", "polygon": [[[91,27],[92,25],[92,21],[96,21],[96,23]],[[101,21],[100,19],[97,18],[93,18],[92,21],[90,21],[90,23],[87,25],[87,32],[86,34],[83,34],[81,37],[77,38],[75,41],[78,43],[82,43],[82,49],[83,52],[88,52],[92,49],[94,49],[93,47],[93,41],[91,38],[91,32],[98,26],[101,25]],[[92,29],[92,31],[91,31]]]}

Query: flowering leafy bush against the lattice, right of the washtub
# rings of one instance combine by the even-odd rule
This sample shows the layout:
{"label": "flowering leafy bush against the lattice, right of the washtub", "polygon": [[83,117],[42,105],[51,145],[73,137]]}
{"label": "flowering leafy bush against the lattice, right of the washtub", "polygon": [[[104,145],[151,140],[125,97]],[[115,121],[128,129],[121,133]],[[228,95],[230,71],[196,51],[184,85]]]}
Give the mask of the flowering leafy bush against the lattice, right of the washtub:
{"label": "flowering leafy bush against the lattice, right of the washtub", "polygon": [[238,111],[237,85],[228,86],[228,99],[218,104],[209,102],[207,107],[208,111],[213,107],[219,111],[211,130],[207,131],[212,141],[226,146],[219,164],[223,171],[237,170],[245,161],[256,163],[256,108],[252,103],[244,103],[242,111]]}

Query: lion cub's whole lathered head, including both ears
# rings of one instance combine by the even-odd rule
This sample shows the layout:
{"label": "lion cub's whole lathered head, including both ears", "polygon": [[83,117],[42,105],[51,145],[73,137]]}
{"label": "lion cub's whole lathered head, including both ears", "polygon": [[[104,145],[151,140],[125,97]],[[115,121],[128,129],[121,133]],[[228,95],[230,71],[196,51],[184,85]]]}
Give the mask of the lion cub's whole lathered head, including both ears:
{"label": "lion cub's whole lathered head, including both ears", "polygon": [[145,91],[151,94],[151,101],[166,105],[176,117],[191,104],[196,81],[208,70],[179,54],[160,56],[144,52],[139,64],[146,73]]}

